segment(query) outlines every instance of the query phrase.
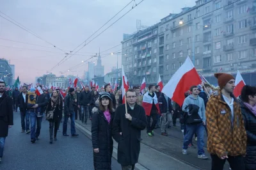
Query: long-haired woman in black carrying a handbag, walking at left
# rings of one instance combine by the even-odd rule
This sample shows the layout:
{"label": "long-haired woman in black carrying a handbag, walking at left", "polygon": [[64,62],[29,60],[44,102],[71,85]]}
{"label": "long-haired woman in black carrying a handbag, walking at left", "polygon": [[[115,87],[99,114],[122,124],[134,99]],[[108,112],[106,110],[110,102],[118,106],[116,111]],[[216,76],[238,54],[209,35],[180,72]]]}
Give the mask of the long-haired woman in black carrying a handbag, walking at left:
{"label": "long-haired woman in black carrying a handbag, walking at left", "polygon": [[53,118],[49,121],[49,127],[50,127],[50,144],[52,144],[52,133],[54,128],[54,141],[57,141],[57,131],[60,126],[61,121],[61,114],[63,111],[63,102],[62,98],[60,98],[60,95],[57,90],[54,89],[52,92],[52,97],[49,99],[49,103],[46,109],[46,114],[49,114],[49,111],[53,112]]}

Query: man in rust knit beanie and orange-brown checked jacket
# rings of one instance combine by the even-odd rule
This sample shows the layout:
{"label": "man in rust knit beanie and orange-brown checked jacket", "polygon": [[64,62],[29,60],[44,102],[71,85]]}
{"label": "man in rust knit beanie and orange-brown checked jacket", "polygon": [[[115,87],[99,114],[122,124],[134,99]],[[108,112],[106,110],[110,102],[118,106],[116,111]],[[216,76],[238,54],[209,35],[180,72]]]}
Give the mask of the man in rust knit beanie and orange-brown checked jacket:
{"label": "man in rust knit beanie and orange-brown checked jacket", "polygon": [[206,107],[208,141],[212,170],[222,170],[228,160],[232,170],[244,170],[246,130],[239,101],[234,97],[235,78],[228,73],[215,73],[220,91]]}

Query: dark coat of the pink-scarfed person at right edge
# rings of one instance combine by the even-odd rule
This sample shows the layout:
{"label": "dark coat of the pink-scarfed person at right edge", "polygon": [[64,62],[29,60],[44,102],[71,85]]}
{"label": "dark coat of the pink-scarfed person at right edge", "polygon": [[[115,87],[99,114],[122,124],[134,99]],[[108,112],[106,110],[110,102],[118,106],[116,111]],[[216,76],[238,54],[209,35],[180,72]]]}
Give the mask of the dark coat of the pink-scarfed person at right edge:
{"label": "dark coat of the pink-scarfed person at right edge", "polygon": [[256,169],[256,116],[243,104],[239,98],[244,127],[247,134],[245,166],[246,170]]}

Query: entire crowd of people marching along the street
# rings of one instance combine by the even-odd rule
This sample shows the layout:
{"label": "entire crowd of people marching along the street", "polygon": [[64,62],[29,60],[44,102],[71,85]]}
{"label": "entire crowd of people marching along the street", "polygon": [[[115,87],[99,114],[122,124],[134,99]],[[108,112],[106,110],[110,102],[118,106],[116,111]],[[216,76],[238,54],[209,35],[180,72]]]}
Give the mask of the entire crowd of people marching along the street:
{"label": "entire crowd of people marching along the street", "polygon": [[177,118],[184,134],[184,155],[193,145],[195,135],[198,158],[206,159],[206,133],[211,169],[223,169],[226,160],[232,170],[256,169],[256,87],[244,86],[236,98],[234,77],[227,73],[216,73],[215,77],[220,89],[195,84],[182,94],[185,97],[182,105],[161,93],[160,86],[155,85],[148,86],[143,93],[140,87],[128,89],[125,98],[122,90],[112,91],[109,84],[99,92],[93,87],[89,90],[88,86],[68,88],[65,98],[61,89],[36,95],[35,88],[28,90],[23,86],[21,92],[15,89],[11,98],[5,92],[6,84],[0,82],[0,162],[8,128],[13,125],[13,111],[17,112],[19,107],[21,132],[30,134],[31,143],[39,139],[44,114],[49,121],[50,144],[57,141],[62,120],[62,134],[68,136],[70,118],[72,137],[78,136],[75,120],[79,118],[84,124],[92,121],[95,169],[111,169],[113,139],[118,143],[118,162],[122,169],[134,169],[140,154],[141,130],[147,129],[147,135],[154,137],[154,129],[161,128],[161,135],[167,136],[166,128],[170,123],[176,126]]}

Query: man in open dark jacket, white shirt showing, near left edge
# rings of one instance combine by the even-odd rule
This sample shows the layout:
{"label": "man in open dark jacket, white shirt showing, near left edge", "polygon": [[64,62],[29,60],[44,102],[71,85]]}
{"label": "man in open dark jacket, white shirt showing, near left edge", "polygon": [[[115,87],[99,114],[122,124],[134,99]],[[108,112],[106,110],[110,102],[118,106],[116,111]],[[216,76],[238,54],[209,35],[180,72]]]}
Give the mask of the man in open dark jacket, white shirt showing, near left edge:
{"label": "man in open dark jacket, white shirt showing, near left edge", "polygon": [[[22,93],[18,96],[18,106],[20,108],[20,119],[21,119],[21,133],[24,133],[26,130],[26,133],[29,134],[29,112],[27,109],[28,104],[28,87],[23,86],[22,87]],[[26,120],[26,121],[25,121]]]}

